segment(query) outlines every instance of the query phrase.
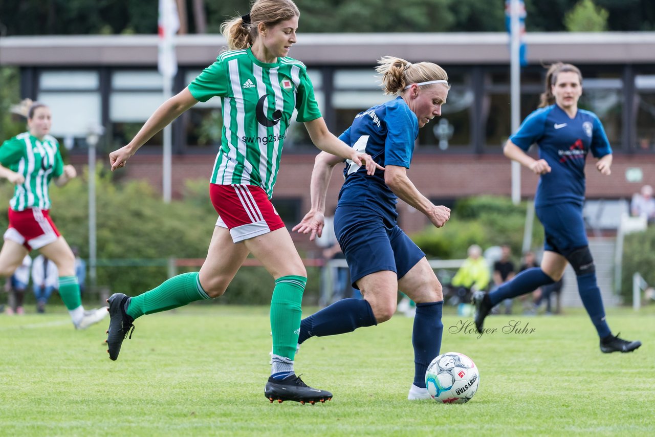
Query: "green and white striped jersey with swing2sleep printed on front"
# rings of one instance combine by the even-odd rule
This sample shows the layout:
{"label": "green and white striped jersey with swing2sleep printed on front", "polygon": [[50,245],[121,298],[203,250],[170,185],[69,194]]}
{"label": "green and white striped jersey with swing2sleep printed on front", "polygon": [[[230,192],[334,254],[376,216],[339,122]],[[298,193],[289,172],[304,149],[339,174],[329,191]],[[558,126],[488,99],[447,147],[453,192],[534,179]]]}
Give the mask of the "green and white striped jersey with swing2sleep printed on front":
{"label": "green and white striped jersey with swing2sleep printed on front", "polygon": [[259,62],[250,48],[222,53],[189,84],[196,100],[221,98],[223,136],[212,183],[257,185],[272,197],[293,109],[296,120],[321,117],[305,64]]}

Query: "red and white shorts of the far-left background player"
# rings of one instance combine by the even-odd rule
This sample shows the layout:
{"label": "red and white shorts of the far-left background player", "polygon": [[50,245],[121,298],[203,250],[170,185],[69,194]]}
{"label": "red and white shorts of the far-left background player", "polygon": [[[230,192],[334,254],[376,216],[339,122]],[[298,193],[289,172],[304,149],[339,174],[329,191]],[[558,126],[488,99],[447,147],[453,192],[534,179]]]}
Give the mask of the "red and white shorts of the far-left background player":
{"label": "red and white shorts of the far-left background player", "polygon": [[28,208],[14,211],[9,208],[9,228],[5,232],[5,240],[15,241],[32,250],[55,242],[60,235],[48,210]]}

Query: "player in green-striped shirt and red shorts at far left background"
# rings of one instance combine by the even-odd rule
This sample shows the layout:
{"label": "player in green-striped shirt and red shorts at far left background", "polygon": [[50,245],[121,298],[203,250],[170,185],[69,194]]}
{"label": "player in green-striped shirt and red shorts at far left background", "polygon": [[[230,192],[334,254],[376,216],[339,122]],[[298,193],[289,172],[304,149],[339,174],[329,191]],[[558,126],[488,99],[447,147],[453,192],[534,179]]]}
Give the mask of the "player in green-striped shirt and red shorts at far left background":
{"label": "player in green-striped shirt and red shorts at far left background", "polygon": [[75,276],[75,256],[50,218],[48,185],[65,185],[77,176],[64,165],[59,143],[49,134],[52,113],[47,105],[33,103],[28,110],[28,132],[0,147],[0,177],[16,185],[9,200],[9,228],[0,250],[0,276],[11,276],[33,249],[51,259],[59,271],[59,295],[76,329],[100,322],[105,307],[85,311]]}

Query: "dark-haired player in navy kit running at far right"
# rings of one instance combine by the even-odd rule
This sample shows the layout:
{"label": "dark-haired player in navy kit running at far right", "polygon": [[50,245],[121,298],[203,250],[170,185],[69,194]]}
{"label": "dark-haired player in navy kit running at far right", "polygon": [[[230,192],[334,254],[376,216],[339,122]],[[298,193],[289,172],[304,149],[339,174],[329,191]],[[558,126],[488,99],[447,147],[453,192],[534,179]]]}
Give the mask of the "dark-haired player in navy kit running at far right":
{"label": "dark-haired player in navy kit running at far right", "polygon": [[[476,328],[482,332],[485,317],[494,305],[557,282],[567,263],[571,263],[580,299],[600,337],[601,351],[631,352],[641,346],[641,341],[626,341],[612,335],[605,321],[582,219],[587,153],[591,150],[597,159],[596,169],[609,176],[612,149],[597,115],[578,109],[581,95],[580,70],[571,64],[553,64],[546,73],[540,109],[531,113],[505,144],[506,157],[540,175],[534,206],[544,225],[544,257],[540,267],[519,273],[495,291],[474,294]],[[526,153],[533,143],[539,147],[539,159]]]}

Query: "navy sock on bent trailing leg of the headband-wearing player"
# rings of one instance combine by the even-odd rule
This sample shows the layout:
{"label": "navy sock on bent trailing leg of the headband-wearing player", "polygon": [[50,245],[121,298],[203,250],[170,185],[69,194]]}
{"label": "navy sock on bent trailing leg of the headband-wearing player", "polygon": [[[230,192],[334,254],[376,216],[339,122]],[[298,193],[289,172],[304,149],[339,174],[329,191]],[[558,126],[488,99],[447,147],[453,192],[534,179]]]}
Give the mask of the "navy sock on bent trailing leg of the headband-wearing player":
{"label": "navy sock on bent trailing leg of the headband-wearing player", "polygon": [[361,326],[377,325],[371,304],[364,299],[341,299],[301,320],[298,343],[309,337],[353,332]]}

